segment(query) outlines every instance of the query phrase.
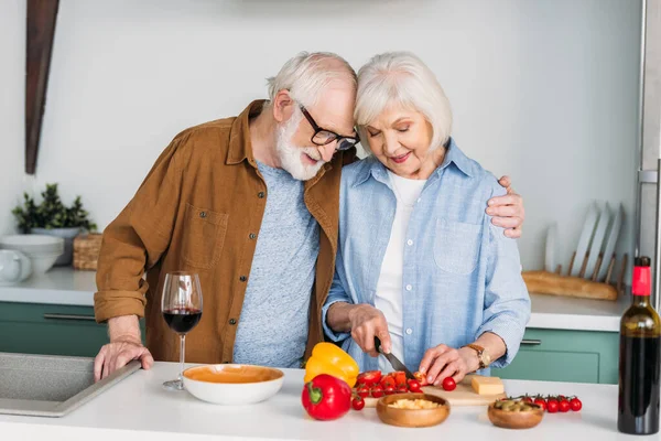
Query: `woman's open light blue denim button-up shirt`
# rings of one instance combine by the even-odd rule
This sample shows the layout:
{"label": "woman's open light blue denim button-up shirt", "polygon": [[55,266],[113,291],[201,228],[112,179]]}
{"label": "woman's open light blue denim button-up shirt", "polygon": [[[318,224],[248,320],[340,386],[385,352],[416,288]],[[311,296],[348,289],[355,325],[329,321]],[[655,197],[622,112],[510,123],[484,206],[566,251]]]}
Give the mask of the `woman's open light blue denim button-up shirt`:
{"label": "woman's open light blue denim button-up shirt", "polygon": [[[530,318],[517,241],[491,224],[487,201],[505,194],[497,179],[451,140],[443,164],[429,178],[409,220],[403,256],[403,346],[407,367],[418,370],[426,349],[499,335],[507,366],[517,355]],[[348,333],[326,324],[335,302],[375,304],[381,262],[397,200],[387,169],[373,157],[343,169],[335,278],[323,308],[324,331],[359,364],[377,369]],[[489,369],[480,374],[489,375]]]}

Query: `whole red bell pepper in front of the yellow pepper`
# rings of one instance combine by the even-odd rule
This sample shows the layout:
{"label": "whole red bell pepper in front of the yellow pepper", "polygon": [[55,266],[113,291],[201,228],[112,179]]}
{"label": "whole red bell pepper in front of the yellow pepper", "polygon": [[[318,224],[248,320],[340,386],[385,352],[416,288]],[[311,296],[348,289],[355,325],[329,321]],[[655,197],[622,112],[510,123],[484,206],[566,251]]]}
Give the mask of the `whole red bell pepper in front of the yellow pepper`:
{"label": "whole red bell pepper in front of the yellow pepper", "polygon": [[337,377],[321,374],[305,384],[301,401],[312,418],[335,420],[351,408],[351,388]]}

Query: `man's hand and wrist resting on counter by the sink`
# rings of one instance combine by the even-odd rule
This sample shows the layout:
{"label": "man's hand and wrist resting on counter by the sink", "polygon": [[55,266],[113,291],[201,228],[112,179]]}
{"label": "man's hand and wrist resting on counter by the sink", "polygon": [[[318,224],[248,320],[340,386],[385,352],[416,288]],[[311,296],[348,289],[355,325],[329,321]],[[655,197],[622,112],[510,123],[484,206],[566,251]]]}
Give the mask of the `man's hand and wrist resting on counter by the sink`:
{"label": "man's hand and wrist resting on counter by the sink", "polygon": [[123,315],[108,320],[108,335],[110,343],[101,347],[94,361],[95,381],[106,378],[132,359],[139,359],[143,369],[153,366],[154,358],[140,338],[138,316]]}

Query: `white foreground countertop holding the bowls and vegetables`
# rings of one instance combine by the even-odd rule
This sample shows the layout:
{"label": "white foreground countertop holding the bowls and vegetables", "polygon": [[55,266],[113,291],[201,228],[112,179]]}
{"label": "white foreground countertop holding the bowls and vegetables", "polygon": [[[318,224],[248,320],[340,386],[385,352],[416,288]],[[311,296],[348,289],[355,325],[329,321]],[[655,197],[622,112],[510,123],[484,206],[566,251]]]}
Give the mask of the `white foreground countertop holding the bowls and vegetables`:
{"label": "white foreground countertop holding the bowls and vegetables", "polygon": [[[99,397],[63,418],[0,415],[0,433],[7,439],[54,440],[625,440],[617,431],[617,386],[503,380],[511,396],[528,394],[576,395],[581,412],[546,413],[530,430],[494,427],[486,407],[454,407],[448,419],[425,429],[383,424],[375,409],[350,410],[335,421],[310,419],[301,406],[303,372],[284,369],[278,395],[253,406],[206,404],[186,391],[166,391],[161,384],[177,374],[177,364],[156,363],[138,370]],[[8,435],[12,435],[11,438]],[[212,438],[215,437],[215,438]],[[532,437],[532,438],[531,438]],[[637,438],[640,439],[640,438]],[[659,434],[642,439],[661,439]]]}

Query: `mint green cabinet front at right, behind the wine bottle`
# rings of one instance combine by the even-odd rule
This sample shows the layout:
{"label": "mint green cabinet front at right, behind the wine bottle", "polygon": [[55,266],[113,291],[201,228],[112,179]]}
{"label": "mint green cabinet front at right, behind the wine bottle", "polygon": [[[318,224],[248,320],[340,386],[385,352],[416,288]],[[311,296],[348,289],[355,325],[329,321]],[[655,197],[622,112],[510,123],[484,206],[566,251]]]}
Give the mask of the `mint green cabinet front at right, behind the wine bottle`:
{"label": "mint green cabinet front at right, behind the wine bottle", "polygon": [[528,329],[514,361],[491,375],[510,379],[617,384],[619,333]]}

